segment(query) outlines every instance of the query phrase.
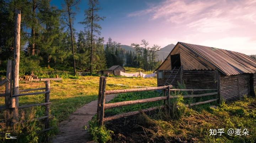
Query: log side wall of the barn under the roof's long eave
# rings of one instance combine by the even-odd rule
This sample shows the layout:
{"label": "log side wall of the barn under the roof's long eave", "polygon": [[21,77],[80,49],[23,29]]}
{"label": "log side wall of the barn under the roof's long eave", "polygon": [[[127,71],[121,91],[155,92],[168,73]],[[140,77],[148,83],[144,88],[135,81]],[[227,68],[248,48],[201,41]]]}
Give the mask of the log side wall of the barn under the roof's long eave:
{"label": "log side wall of the barn under the roof's long eave", "polygon": [[244,95],[249,95],[249,74],[239,74],[232,76],[220,76],[220,92],[226,102],[241,99]]}

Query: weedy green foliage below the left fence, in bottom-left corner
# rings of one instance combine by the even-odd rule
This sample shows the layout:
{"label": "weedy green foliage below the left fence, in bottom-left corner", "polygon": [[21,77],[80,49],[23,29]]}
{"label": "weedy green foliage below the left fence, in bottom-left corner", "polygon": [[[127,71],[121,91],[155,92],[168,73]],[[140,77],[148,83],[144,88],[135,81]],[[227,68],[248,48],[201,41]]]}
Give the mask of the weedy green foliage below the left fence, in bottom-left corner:
{"label": "weedy green foliage below the left fence, in bottom-left corner", "polygon": [[[41,143],[45,142],[45,137],[50,137],[50,133],[56,132],[56,130],[49,131],[50,133],[36,133],[37,131],[42,130],[43,125],[35,120],[38,116],[40,116],[44,108],[37,107],[37,109],[32,108],[31,110],[20,110],[19,120],[14,122],[12,126],[6,126],[6,122],[11,119],[6,119],[6,115],[8,114],[6,111],[1,116],[5,122],[0,123],[0,132],[10,132],[12,136],[17,136],[17,142],[27,142],[27,143]],[[41,115],[43,116],[43,115]],[[51,127],[55,127],[57,125],[57,121],[50,121]],[[4,142],[11,142],[8,139],[4,138]]]}

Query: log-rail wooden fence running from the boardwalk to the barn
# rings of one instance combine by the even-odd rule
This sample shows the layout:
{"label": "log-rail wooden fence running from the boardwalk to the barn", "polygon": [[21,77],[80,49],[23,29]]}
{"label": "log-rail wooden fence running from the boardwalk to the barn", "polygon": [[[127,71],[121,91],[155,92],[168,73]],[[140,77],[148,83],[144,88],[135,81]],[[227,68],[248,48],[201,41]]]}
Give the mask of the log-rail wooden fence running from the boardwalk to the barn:
{"label": "log-rail wooden fence running from the boardwalk to the barn", "polygon": [[[197,95],[185,95],[185,96],[183,96],[183,98],[218,95],[217,89],[172,89],[172,85],[159,86],[159,87],[132,88],[132,89],[106,91],[105,90],[106,89],[106,79],[107,78],[105,76],[100,77],[100,85],[99,85],[99,91],[98,91],[97,121],[98,121],[98,124],[101,125],[101,126],[103,125],[103,123],[105,121],[110,121],[110,120],[130,116],[130,115],[136,115],[136,114],[139,114],[141,112],[152,111],[152,110],[155,110],[155,109],[161,109],[161,108],[165,108],[165,107],[168,109],[168,111],[170,113],[170,110],[171,110],[170,99],[179,97],[179,96],[171,96],[171,94],[170,94],[171,91],[216,91],[216,92],[203,93],[203,94],[197,94]],[[154,91],[154,90],[162,90],[164,92],[164,96],[105,104],[106,95],[117,94],[117,93],[128,93],[128,92]],[[167,92],[167,96],[166,96],[166,92]],[[128,112],[128,113],[118,114],[118,115],[114,115],[114,116],[104,118],[105,109],[111,109],[111,108],[114,108],[114,107],[122,107],[122,106],[126,106],[126,105],[133,105],[133,104],[140,104],[140,103],[155,102],[155,101],[161,101],[161,100],[164,100],[164,105],[160,105],[158,107],[151,107],[151,108],[148,108],[148,109],[142,109],[142,110],[139,110],[139,111],[132,111],[132,112]],[[196,103],[190,103],[187,106],[210,103],[210,102],[214,102],[214,101],[218,101],[218,96],[216,96],[215,99],[210,99],[210,100],[207,100],[207,101],[196,102]]]}

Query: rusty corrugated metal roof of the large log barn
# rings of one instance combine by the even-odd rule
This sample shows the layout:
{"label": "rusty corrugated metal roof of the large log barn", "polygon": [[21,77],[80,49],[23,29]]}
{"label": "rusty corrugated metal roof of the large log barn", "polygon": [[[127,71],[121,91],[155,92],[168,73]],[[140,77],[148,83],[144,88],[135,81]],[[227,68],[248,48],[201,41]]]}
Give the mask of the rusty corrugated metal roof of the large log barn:
{"label": "rusty corrugated metal roof of the large log barn", "polygon": [[243,53],[183,42],[178,44],[202,57],[225,75],[256,73],[256,60]]}

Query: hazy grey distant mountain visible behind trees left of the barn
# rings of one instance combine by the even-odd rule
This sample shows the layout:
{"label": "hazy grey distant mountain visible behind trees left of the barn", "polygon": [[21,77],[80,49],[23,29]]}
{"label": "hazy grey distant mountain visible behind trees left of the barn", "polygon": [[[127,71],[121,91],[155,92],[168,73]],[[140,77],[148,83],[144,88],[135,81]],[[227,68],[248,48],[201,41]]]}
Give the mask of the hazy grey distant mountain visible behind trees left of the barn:
{"label": "hazy grey distant mountain visible behind trees left of the barn", "polygon": [[[158,51],[158,57],[156,58],[156,60],[162,60],[164,61],[164,59],[169,55],[169,53],[171,52],[171,50],[174,48],[174,44],[170,44],[167,45],[163,48],[161,48]],[[106,48],[106,44],[104,45],[104,49]],[[128,46],[128,45],[121,45],[121,48],[125,49],[126,51],[132,51],[135,52],[135,49],[132,46]]]}

